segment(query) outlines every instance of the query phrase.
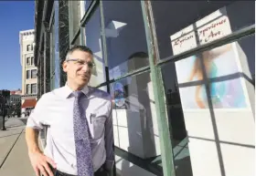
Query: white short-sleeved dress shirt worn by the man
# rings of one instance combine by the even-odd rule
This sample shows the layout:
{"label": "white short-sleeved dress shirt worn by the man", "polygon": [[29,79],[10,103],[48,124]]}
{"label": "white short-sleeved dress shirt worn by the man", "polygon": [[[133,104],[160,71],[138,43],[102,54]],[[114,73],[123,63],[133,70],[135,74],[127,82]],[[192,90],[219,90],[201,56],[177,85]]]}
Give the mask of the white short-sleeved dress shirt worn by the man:
{"label": "white short-sleeved dress shirt worn by the man", "polygon": [[[112,100],[97,88],[85,87],[86,119],[90,129],[91,155],[94,171],[105,163],[111,170],[114,160],[112,150]],[[48,126],[45,155],[57,163],[57,170],[77,175],[77,160],[73,130],[72,90],[66,85],[44,94],[27,119],[27,127],[43,129]]]}

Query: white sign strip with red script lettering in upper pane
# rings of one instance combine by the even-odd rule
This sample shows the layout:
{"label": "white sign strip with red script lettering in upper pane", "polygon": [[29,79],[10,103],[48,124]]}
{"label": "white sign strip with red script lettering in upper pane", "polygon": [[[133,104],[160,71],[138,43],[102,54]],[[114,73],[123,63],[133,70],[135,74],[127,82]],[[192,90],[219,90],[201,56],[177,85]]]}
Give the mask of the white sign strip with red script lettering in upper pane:
{"label": "white sign strip with red script lettering in upper pane", "polygon": [[231,34],[226,8],[206,16],[170,36],[174,55]]}

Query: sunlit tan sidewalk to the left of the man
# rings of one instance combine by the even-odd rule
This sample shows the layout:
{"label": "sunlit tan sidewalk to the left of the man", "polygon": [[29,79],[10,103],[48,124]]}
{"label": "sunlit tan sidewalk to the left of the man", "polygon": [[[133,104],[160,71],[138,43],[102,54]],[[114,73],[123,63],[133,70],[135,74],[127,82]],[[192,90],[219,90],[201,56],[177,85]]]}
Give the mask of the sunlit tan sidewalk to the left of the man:
{"label": "sunlit tan sidewalk to the left of the man", "polygon": [[0,130],[0,176],[36,176],[27,155],[26,119],[7,119]]}

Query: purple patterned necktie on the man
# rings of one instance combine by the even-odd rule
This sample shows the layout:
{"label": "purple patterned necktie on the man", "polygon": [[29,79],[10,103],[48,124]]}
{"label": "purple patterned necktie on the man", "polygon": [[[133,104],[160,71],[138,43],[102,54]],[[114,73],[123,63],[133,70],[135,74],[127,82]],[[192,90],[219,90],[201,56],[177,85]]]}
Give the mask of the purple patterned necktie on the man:
{"label": "purple patterned necktie on the man", "polygon": [[81,91],[74,91],[73,95],[75,96],[73,121],[78,176],[93,176],[88,124],[85,110],[82,108],[81,103],[81,99],[84,98],[85,95]]}

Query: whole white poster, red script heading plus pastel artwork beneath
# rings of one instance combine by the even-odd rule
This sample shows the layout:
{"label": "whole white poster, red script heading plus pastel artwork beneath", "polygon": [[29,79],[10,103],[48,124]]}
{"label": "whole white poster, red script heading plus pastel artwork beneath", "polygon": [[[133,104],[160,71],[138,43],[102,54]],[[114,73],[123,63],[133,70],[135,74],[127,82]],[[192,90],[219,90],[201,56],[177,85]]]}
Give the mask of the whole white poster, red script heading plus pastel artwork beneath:
{"label": "whole white poster, red script heading plus pastel artwork beneath", "polygon": [[[171,36],[174,55],[231,34],[225,7]],[[246,108],[246,98],[233,44],[217,47],[176,62],[183,109],[208,109],[206,85],[215,109]],[[204,79],[204,69],[207,78]],[[207,81],[206,81],[207,80]],[[186,83],[186,84],[182,84]],[[183,85],[183,86],[180,86]]]}

